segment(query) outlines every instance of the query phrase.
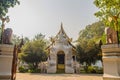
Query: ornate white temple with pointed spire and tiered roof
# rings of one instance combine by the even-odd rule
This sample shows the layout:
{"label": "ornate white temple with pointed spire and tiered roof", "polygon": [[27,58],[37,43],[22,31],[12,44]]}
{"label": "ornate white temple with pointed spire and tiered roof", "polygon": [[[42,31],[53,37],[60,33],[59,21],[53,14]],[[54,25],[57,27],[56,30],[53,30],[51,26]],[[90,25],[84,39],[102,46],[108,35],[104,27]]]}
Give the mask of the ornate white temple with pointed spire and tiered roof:
{"label": "ornate white temple with pointed spire and tiered roof", "polygon": [[47,50],[49,52],[47,73],[75,73],[76,48],[71,44],[61,23],[58,34],[51,38],[51,44]]}

